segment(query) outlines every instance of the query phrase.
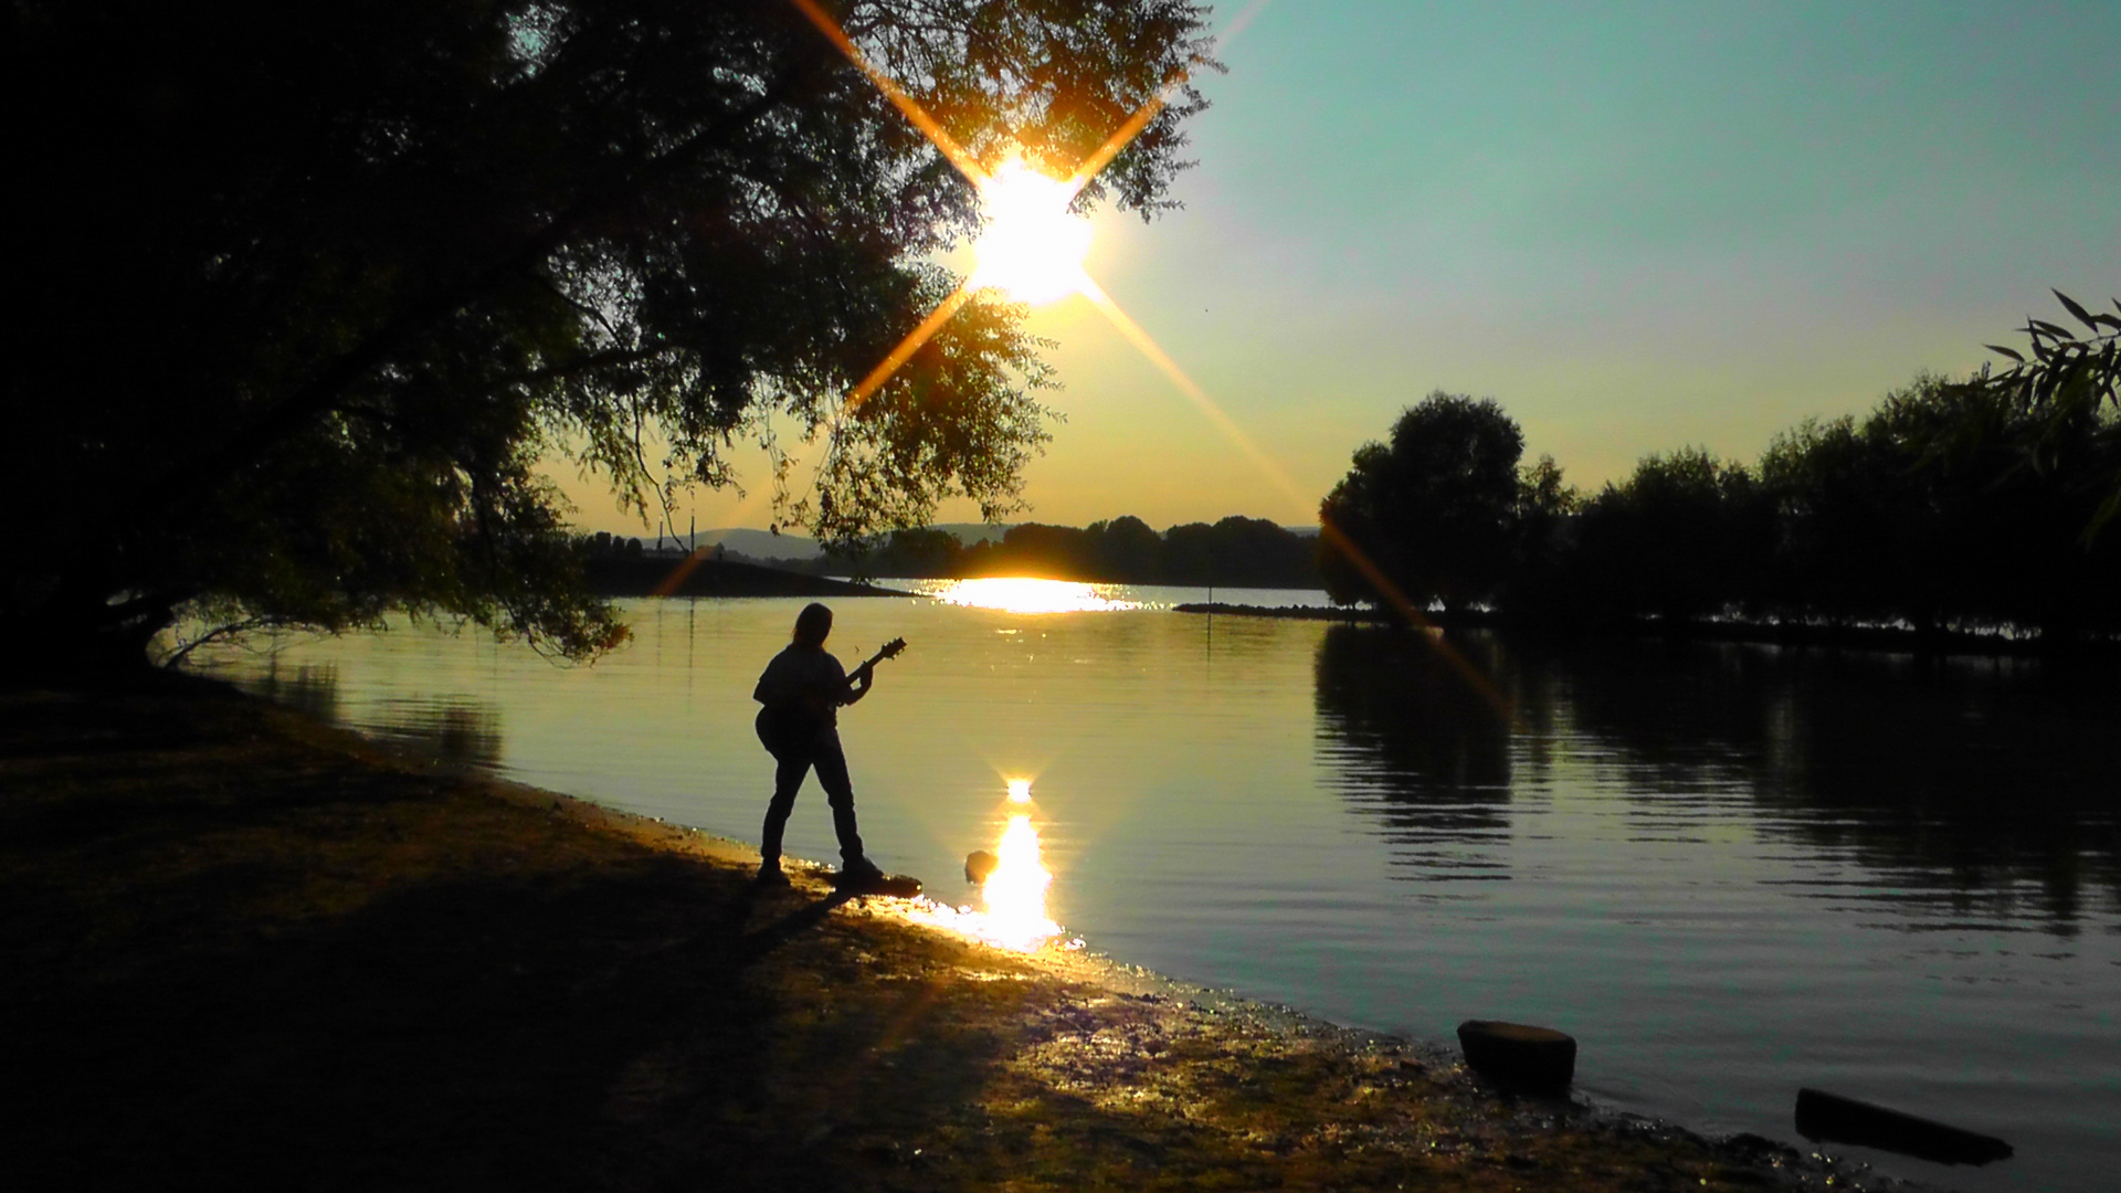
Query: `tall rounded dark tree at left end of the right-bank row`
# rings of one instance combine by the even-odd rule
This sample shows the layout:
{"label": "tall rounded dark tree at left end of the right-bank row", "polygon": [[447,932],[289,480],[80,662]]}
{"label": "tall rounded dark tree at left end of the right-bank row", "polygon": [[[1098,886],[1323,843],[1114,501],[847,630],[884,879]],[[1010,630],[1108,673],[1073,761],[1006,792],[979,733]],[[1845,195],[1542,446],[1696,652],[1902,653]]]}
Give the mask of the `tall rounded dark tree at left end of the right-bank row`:
{"label": "tall rounded dark tree at left end of the right-bank row", "polygon": [[[1319,505],[1415,605],[1489,601],[1508,575],[1525,435],[1495,399],[1436,391],[1406,408],[1387,444],[1364,444]],[[1559,484],[1559,469],[1555,471]],[[1328,533],[1319,571],[1334,601],[1389,599]]]}

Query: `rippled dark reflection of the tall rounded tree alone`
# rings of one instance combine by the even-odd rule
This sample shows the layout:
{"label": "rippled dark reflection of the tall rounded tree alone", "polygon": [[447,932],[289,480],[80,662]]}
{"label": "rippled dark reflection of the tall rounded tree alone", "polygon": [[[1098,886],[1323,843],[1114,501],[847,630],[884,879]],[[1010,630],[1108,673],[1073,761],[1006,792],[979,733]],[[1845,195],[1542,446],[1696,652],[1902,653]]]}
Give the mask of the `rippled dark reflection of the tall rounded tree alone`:
{"label": "rippled dark reflection of the tall rounded tree alone", "polygon": [[[1453,637],[1500,675],[1487,635]],[[1317,654],[1319,754],[1423,881],[1508,879],[1510,722],[1423,635],[1330,626]]]}

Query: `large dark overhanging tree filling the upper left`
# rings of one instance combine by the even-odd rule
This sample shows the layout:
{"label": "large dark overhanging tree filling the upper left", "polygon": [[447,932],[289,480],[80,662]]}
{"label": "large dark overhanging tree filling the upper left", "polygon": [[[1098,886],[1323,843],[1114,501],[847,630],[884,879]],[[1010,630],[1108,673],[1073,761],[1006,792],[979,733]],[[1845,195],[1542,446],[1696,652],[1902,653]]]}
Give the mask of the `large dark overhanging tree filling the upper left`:
{"label": "large dark overhanging tree filling the upper left", "polygon": [[[1205,11],[1186,0],[827,0],[988,163],[1169,206]],[[821,537],[1018,505],[1041,344],[954,287],[971,189],[787,0],[25,0],[11,144],[25,346],[0,446],[15,667],[136,662],[187,601],[325,628],[469,616],[568,656],[564,452],[649,509],[728,450],[821,435]],[[51,550],[49,509],[68,541]]]}

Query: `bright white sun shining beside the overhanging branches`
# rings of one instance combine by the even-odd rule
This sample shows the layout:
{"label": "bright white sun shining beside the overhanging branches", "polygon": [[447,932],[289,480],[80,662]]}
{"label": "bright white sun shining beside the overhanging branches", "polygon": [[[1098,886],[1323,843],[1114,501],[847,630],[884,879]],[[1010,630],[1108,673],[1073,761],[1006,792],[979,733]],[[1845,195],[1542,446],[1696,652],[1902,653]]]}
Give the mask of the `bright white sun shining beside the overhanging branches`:
{"label": "bright white sun shining beside the overhanging branches", "polygon": [[1014,301],[1048,304],[1084,289],[1090,221],[1069,214],[1075,187],[1020,159],[980,183],[986,231],[974,242],[971,289],[997,289]]}

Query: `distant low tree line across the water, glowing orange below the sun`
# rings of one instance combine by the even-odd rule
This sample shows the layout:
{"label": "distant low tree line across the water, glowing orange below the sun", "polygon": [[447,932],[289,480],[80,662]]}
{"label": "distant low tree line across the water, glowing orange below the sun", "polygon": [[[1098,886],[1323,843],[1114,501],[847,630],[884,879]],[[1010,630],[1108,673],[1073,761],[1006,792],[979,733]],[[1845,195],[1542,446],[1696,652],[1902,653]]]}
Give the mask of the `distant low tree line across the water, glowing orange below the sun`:
{"label": "distant low tree line across the water, glowing orange below the sun", "polygon": [[808,565],[829,575],[974,577],[1037,575],[1107,584],[1224,584],[1317,588],[1317,548],[1264,518],[1188,522],[1162,533],[1141,518],[1088,526],[1010,526],[1001,539],[963,543],[948,531],[897,531],[867,548],[827,552]]}

